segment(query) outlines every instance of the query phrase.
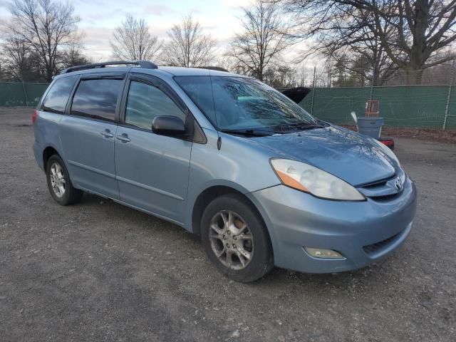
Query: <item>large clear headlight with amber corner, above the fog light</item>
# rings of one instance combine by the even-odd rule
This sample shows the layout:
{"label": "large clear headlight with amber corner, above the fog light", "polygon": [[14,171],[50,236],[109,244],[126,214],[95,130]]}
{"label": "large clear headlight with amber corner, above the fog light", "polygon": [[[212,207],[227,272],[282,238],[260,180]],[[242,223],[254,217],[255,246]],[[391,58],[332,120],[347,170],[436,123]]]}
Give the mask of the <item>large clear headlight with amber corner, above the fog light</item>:
{"label": "large clear headlight with amber corner, above the fog light", "polygon": [[314,166],[296,160],[271,159],[279,180],[296,190],[309,192],[316,197],[343,201],[363,201],[358,190],[340,178]]}

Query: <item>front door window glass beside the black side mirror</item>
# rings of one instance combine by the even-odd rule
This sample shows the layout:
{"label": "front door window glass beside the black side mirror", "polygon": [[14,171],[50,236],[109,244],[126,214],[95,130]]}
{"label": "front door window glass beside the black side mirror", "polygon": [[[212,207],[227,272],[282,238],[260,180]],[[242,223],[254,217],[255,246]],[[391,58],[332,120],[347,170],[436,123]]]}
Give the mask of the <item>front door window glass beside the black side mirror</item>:
{"label": "front door window glass beside the black side mirror", "polygon": [[128,90],[125,123],[150,130],[158,115],[172,115],[185,121],[185,113],[159,88],[132,81]]}

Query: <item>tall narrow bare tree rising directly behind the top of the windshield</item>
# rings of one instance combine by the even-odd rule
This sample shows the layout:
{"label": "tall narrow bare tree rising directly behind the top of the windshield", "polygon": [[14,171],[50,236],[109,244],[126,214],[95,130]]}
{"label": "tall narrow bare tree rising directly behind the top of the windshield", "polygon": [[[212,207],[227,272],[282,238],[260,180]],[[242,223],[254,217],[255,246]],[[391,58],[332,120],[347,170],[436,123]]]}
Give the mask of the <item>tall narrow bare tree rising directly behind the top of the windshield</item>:
{"label": "tall narrow bare tree rising directly behind the top of the windshield", "polygon": [[242,32],[232,39],[228,54],[239,68],[262,81],[269,63],[290,45],[287,28],[279,6],[270,1],[256,0],[251,8],[242,10]]}

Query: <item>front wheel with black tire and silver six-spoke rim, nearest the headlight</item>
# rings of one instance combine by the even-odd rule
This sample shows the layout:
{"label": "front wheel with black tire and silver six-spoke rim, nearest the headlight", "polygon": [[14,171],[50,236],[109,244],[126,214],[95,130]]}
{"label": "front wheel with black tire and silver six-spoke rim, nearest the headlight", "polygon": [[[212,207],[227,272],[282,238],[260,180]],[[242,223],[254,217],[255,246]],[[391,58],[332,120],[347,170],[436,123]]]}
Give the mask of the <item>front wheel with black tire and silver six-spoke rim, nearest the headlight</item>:
{"label": "front wheel with black tire and silver six-spoke rim, nearest the headlight", "polygon": [[202,214],[201,239],[209,259],[229,279],[255,281],[274,266],[266,227],[240,195],[223,195],[209,203]]}

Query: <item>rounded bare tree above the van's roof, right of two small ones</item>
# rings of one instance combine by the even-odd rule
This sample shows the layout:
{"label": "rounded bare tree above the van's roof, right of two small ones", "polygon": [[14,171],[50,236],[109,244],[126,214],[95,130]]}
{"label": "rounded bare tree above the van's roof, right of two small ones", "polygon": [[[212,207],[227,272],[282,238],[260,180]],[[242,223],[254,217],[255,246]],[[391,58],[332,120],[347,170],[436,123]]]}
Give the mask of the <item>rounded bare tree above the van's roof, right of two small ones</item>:
{"label": "rounded bare tree above the van's roof, right of two small ones", "polygon": [[170,42],[163,48],[162,58],[170,66],[209,66],[215,61],[217,41],[204,33],[198,21],[185,16],[168,32]]}

